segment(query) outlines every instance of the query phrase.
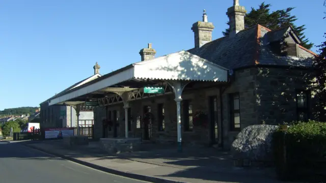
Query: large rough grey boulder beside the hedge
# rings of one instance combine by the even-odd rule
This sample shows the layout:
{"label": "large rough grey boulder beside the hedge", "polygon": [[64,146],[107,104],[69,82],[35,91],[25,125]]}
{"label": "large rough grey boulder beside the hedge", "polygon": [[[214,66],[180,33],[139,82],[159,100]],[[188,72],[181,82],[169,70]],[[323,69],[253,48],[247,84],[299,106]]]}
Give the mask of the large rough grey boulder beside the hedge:
{"label": "large rough grey boulder beside the hedge", "polygon": [[241,130],[231,145],[231,154],[235,160],[273,161],[271,140],[279,126],[252,125]]}

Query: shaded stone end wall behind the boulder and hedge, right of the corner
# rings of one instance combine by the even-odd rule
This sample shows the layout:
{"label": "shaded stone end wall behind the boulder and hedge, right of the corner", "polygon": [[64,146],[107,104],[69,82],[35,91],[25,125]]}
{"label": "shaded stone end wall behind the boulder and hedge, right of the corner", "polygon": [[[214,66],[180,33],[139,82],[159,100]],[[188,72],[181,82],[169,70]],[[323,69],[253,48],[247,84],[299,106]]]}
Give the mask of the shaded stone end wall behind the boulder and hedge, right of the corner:
{"label": "shaded stone end wall behind the boulder and hedge, right of the corner", "polygon": [[257,69],[259,124],[278,125],[297,120],[296,89],[306,89],[304,76],[307,72],[303,69]]}

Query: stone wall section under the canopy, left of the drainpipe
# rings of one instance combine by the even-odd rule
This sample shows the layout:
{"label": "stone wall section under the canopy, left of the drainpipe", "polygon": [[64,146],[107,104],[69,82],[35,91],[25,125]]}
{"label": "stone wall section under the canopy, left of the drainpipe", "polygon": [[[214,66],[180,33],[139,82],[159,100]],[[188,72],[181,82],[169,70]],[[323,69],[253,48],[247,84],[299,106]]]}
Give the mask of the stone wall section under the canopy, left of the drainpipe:
{"label": "stone wall section under the canopy, left of the drainpipe", "polygon": [[[219,100],[219,88],[209,88],[209,89],[192,89],[185,90],[182,94],[184,100],[192,100],[193,113],[196,111],[203,111],[205,113],[209,112],[208,97],[216,96]],[[218,104],[220,101],[218,101]],[[165,108],[165,130],[158,131],[158,104],[164,104]],[[183,105],[183,103],[181,103]],[[153,98],[146,98],[143,100],[135,100],[130,102],[131,107],[131,131],[129,131],[129,137],[133,138],[144,138],[143,124],[141,128],[137,128],[137,116],[143,118],[143,108],[144,106],[151,106],[151,112],[154,115],[152,119],[151,128],[151,138],[150,141],[155,143],[163,144],[176,144],[177,143],[177,111],[176,102],[174,101],[174,94],[167,94],[165,96],[158,96]],[[218,106],[220,109],[220,105]],[[108,110],[119,110],[119,128],[118,137],[125,136],[125,121],[124,121],[124,108],[123,104],[115,104],[108,107]],[[220,117],[220,114],[219,114]],[[96,138],[102,137],[102,125],[101,120],[105,118],[105,109],[102,107],[97,107],[94,109],[94,132]],[[221,124],[221,119],[219,118],[219,124]],[[141,120],[142,121],[142,120]],[[183,113],[181,110],[181,121],[183,121]],[[99,125],[100,124],[100,125]],[[210,130],[204,127],[193,127],[192,131],[185,132],[183,130],[183,124],[181,126],[182,131],[182,142],[185,145],[208,145],[210,144]],[[221,131],[221,129],[219,129]],[[108,137],[113,137],[113,131],[110,131]]]}

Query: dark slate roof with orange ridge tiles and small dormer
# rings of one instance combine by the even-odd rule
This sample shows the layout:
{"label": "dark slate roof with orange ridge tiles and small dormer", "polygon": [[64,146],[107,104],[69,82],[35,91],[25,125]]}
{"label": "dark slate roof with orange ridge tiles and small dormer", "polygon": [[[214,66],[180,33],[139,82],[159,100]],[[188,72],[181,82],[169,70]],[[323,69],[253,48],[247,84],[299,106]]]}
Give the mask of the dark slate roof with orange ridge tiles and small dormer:
{"label": "dark slate roof with orange ridge tiles and small dormer", "polygon": [[225,36],[206,43],[199,49],[192,48],[188,51],[228,69],[255,65],[311,66],[314,53],[303,47],[298,50],[300,57],[279,56],[271,51],[270,37],[266,33],[273,33],[272,40],[275,41],[288,28],[272,32],[266,27],[255,25],[240,31],[234,37]]}

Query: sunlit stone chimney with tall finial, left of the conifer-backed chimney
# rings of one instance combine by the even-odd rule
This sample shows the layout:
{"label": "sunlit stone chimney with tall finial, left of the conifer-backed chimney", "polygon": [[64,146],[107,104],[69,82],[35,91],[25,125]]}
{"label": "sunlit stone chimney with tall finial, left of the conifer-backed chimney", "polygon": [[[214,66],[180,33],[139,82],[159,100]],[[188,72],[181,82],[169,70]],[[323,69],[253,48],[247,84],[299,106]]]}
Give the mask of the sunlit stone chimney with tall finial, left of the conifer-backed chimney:
{"label": "sunlit stone chimney with tall finial, left of the conifer-backed chimney", "polygon": [[200,48],[204,44],[212,41],[214,25],[207,20],[206,10],[203,11],[203,21],[193,24],[192,30],[195,36],[195,48]]}

